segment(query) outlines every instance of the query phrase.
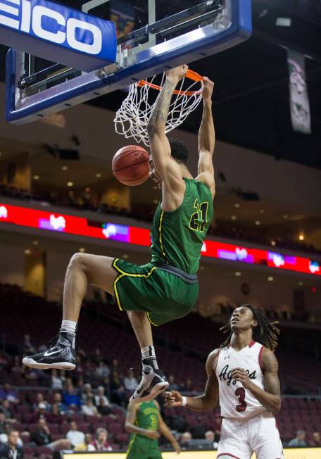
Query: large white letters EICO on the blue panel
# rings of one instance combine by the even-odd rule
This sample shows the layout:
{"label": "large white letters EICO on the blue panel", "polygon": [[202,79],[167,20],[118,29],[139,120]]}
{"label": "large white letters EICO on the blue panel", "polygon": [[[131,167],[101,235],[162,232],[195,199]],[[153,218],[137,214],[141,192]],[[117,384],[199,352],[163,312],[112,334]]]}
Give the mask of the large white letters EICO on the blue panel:
{"label": "large white letters EICO on the blue panel", "polygon": [[[10,6],[10,11],[7,11],[8,8],[2,9],[11,15],[18,16],[21,8],[21,21],[1,14],[1,24],[27,33],[30,33],[30,28],[32,28],[32,32],[39,38],[56,44],[67,42],[70,48],[83,53],[95,55],[101,52],[103,35],[96,25],[76,18],[66,19],[58,11],[46,6],[36,5],[31,8],[30,1],[27,0],[15,0],[15,3],[17,6]],[[82,41],[86,32],[92,34],[92,43]]]}

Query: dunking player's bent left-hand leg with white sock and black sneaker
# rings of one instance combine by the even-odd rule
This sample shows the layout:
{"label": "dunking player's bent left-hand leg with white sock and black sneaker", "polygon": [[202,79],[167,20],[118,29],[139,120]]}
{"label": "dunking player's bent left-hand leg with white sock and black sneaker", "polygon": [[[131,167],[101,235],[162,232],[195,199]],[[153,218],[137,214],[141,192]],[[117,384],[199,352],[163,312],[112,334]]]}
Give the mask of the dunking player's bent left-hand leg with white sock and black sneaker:
{"label": "dunking player's bent left-hand leg with white sock and black sneaker", "polygon": [[96,285],[113,294],[116,277],[113,258],[76,253],[70,259],[65,275],[60,332],[51,340],[47,351],[23,358],[23,364],[33,368],[74,370],[76,326],[87,286]]}

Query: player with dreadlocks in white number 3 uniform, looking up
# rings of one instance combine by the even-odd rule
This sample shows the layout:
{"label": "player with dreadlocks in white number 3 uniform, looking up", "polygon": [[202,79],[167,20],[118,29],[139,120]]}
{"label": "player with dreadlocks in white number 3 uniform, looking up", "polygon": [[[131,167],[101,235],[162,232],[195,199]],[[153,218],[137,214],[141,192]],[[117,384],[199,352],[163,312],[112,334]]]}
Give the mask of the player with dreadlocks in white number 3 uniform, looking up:
{"label": "player with dreadlocks in white number 3 uniform, looking up", "polygon": [[166,404],[190,410],[213,410],[220,401],[222,434],[217,458],[283,459],[275,417],[281,408],[278,363],[274,351],[279,329],[260,310],[236,308],[222,332],[227,339],[208,356],[204,394],[166,394]]}

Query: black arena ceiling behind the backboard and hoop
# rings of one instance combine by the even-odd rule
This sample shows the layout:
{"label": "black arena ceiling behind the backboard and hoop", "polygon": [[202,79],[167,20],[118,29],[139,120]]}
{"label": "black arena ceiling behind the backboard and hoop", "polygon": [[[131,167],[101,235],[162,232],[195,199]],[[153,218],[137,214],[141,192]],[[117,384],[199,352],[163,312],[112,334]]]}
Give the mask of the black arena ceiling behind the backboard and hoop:
{"label": "black arena ceiling behind the backboard and hoop", "polygon": [[[80,5],[76,0],[63,3],[75,8]],[[321,2],[253,0],[252,3],[251,39],[191,65],[215,81],[213,114],[218,139],[267,153],[276,160],[321,168]],[[291,27],[278,27],[279,17],[291,18]],[[306,58],[306,74],[311,135],[299,134],[291,127],[284,47],[310,56]],[[0,46],[2,63],[5,54],[6,48]],[[4,80],[4,65],[0,66],[0,79]],[[116,110],[123,98],[124,92],[118,91],[90,103]],[[197,132],[200,116],[201,108],[182,128]]]}

